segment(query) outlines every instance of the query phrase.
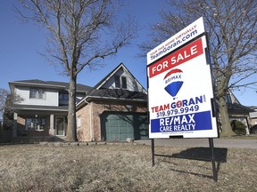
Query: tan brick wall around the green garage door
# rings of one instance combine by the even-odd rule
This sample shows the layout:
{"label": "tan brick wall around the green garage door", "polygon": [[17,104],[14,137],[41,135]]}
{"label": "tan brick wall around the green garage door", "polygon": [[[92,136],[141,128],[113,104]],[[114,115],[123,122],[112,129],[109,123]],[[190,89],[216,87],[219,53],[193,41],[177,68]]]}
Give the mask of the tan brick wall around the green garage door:
{"label": "tan brick wall around the green garage door", "polygon": [[[125,101],[126,102],[126,101]],[[132,104],[133,109],[126,108],[126,104]],[[90,106],[91,105],[91,106]],[[90,109],[91,108],[91,109]],[[91,111],[91,125],[90,125],[90,111]],[[104,100],[95,100],[90,104],[77,111],[77,116],[81,116],[81,126],[78,127],[78,140],[79,141],[99,141],[103,140],[101,134],[101,115],[104,111],[118,111],[118,112],[138,112],[145,113],[147,111],[147,104],[137,102],[117,102]],[[92,132],[90,132],[90,126]],[[92,134],[92,136],[91,136]],[[91,138],[93,137],[93,138]]]}

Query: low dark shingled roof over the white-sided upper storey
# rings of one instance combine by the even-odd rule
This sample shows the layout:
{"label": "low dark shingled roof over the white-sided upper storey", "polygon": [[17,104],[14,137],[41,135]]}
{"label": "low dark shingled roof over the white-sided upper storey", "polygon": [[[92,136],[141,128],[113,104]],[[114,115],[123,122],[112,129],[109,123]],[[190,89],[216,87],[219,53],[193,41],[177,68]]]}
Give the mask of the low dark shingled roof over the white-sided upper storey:
{"label": "low dark shingled roof over the white-sided upper storey", "polygon": [[[41,87],[69,90],[69,83],[55,82],[55,81],[42,81],[39,79],[13,81],[13,82],[9,82],[9,84],[10,86],[11,84],[21,84],[21,85],[41,86]],[[77,84],[77,92],[89,92],[91,89],[92,87],[90,86],[87,86],[84,84]]]}

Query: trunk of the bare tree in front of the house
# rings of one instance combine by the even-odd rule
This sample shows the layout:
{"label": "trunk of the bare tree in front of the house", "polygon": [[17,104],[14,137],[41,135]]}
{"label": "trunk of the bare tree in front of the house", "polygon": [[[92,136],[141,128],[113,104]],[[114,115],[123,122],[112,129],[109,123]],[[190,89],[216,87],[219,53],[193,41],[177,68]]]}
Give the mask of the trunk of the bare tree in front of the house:
{"label": "trunk of the bare tree in front of the house", "polygon": [[76,122],[76,80],[77,77],[70,76],[68,127],[66,141],[77,141]]}

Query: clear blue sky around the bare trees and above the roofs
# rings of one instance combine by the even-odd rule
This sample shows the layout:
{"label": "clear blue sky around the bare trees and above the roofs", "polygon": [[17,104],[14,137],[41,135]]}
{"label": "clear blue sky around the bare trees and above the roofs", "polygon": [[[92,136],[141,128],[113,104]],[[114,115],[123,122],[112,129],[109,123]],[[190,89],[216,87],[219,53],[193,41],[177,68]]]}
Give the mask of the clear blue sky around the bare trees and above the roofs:
{"label": "clear blue sky around the bare trees and above the roofs", "polygon": [[[137,38],[131,45],[122,48],[115,58],[104,60],[104,68],[94,71],[84,68],[78,76],[79,84],[94,86],[122,62],[146,88],[146,56],[145,59],[137,58],[140,52],[137,44],[147,40],[150,24],[160,20],[158,12],[165,7],[165,0],[126,2],[128,5],[123,8],[124,14],[128,12],[138,21]],[[46,45],[44,29],[32,23],[22,23],[13,4],[17,5],[17,0],[0,0],[0,88],[9,90],[8,82],[28,79],[69,82],[39,54]],[[234,93],[243,105],[257,106],[257,94],[253,90]]]}

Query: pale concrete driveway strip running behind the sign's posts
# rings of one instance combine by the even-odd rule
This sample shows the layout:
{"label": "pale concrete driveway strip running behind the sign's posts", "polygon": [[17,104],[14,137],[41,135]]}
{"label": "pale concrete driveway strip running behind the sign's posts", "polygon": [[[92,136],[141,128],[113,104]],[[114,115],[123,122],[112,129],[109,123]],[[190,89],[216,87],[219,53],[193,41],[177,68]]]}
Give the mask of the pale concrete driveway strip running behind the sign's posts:
{"label": "pale concrete driveway strip running behind the sign's posts", "polygon": [[[136,143],[151,145],[151,140],[135,140]],[[213,139],[214,148],[256,148],[257,140]],[[209,147],[208,139],[155,139],[155,146]]]}

